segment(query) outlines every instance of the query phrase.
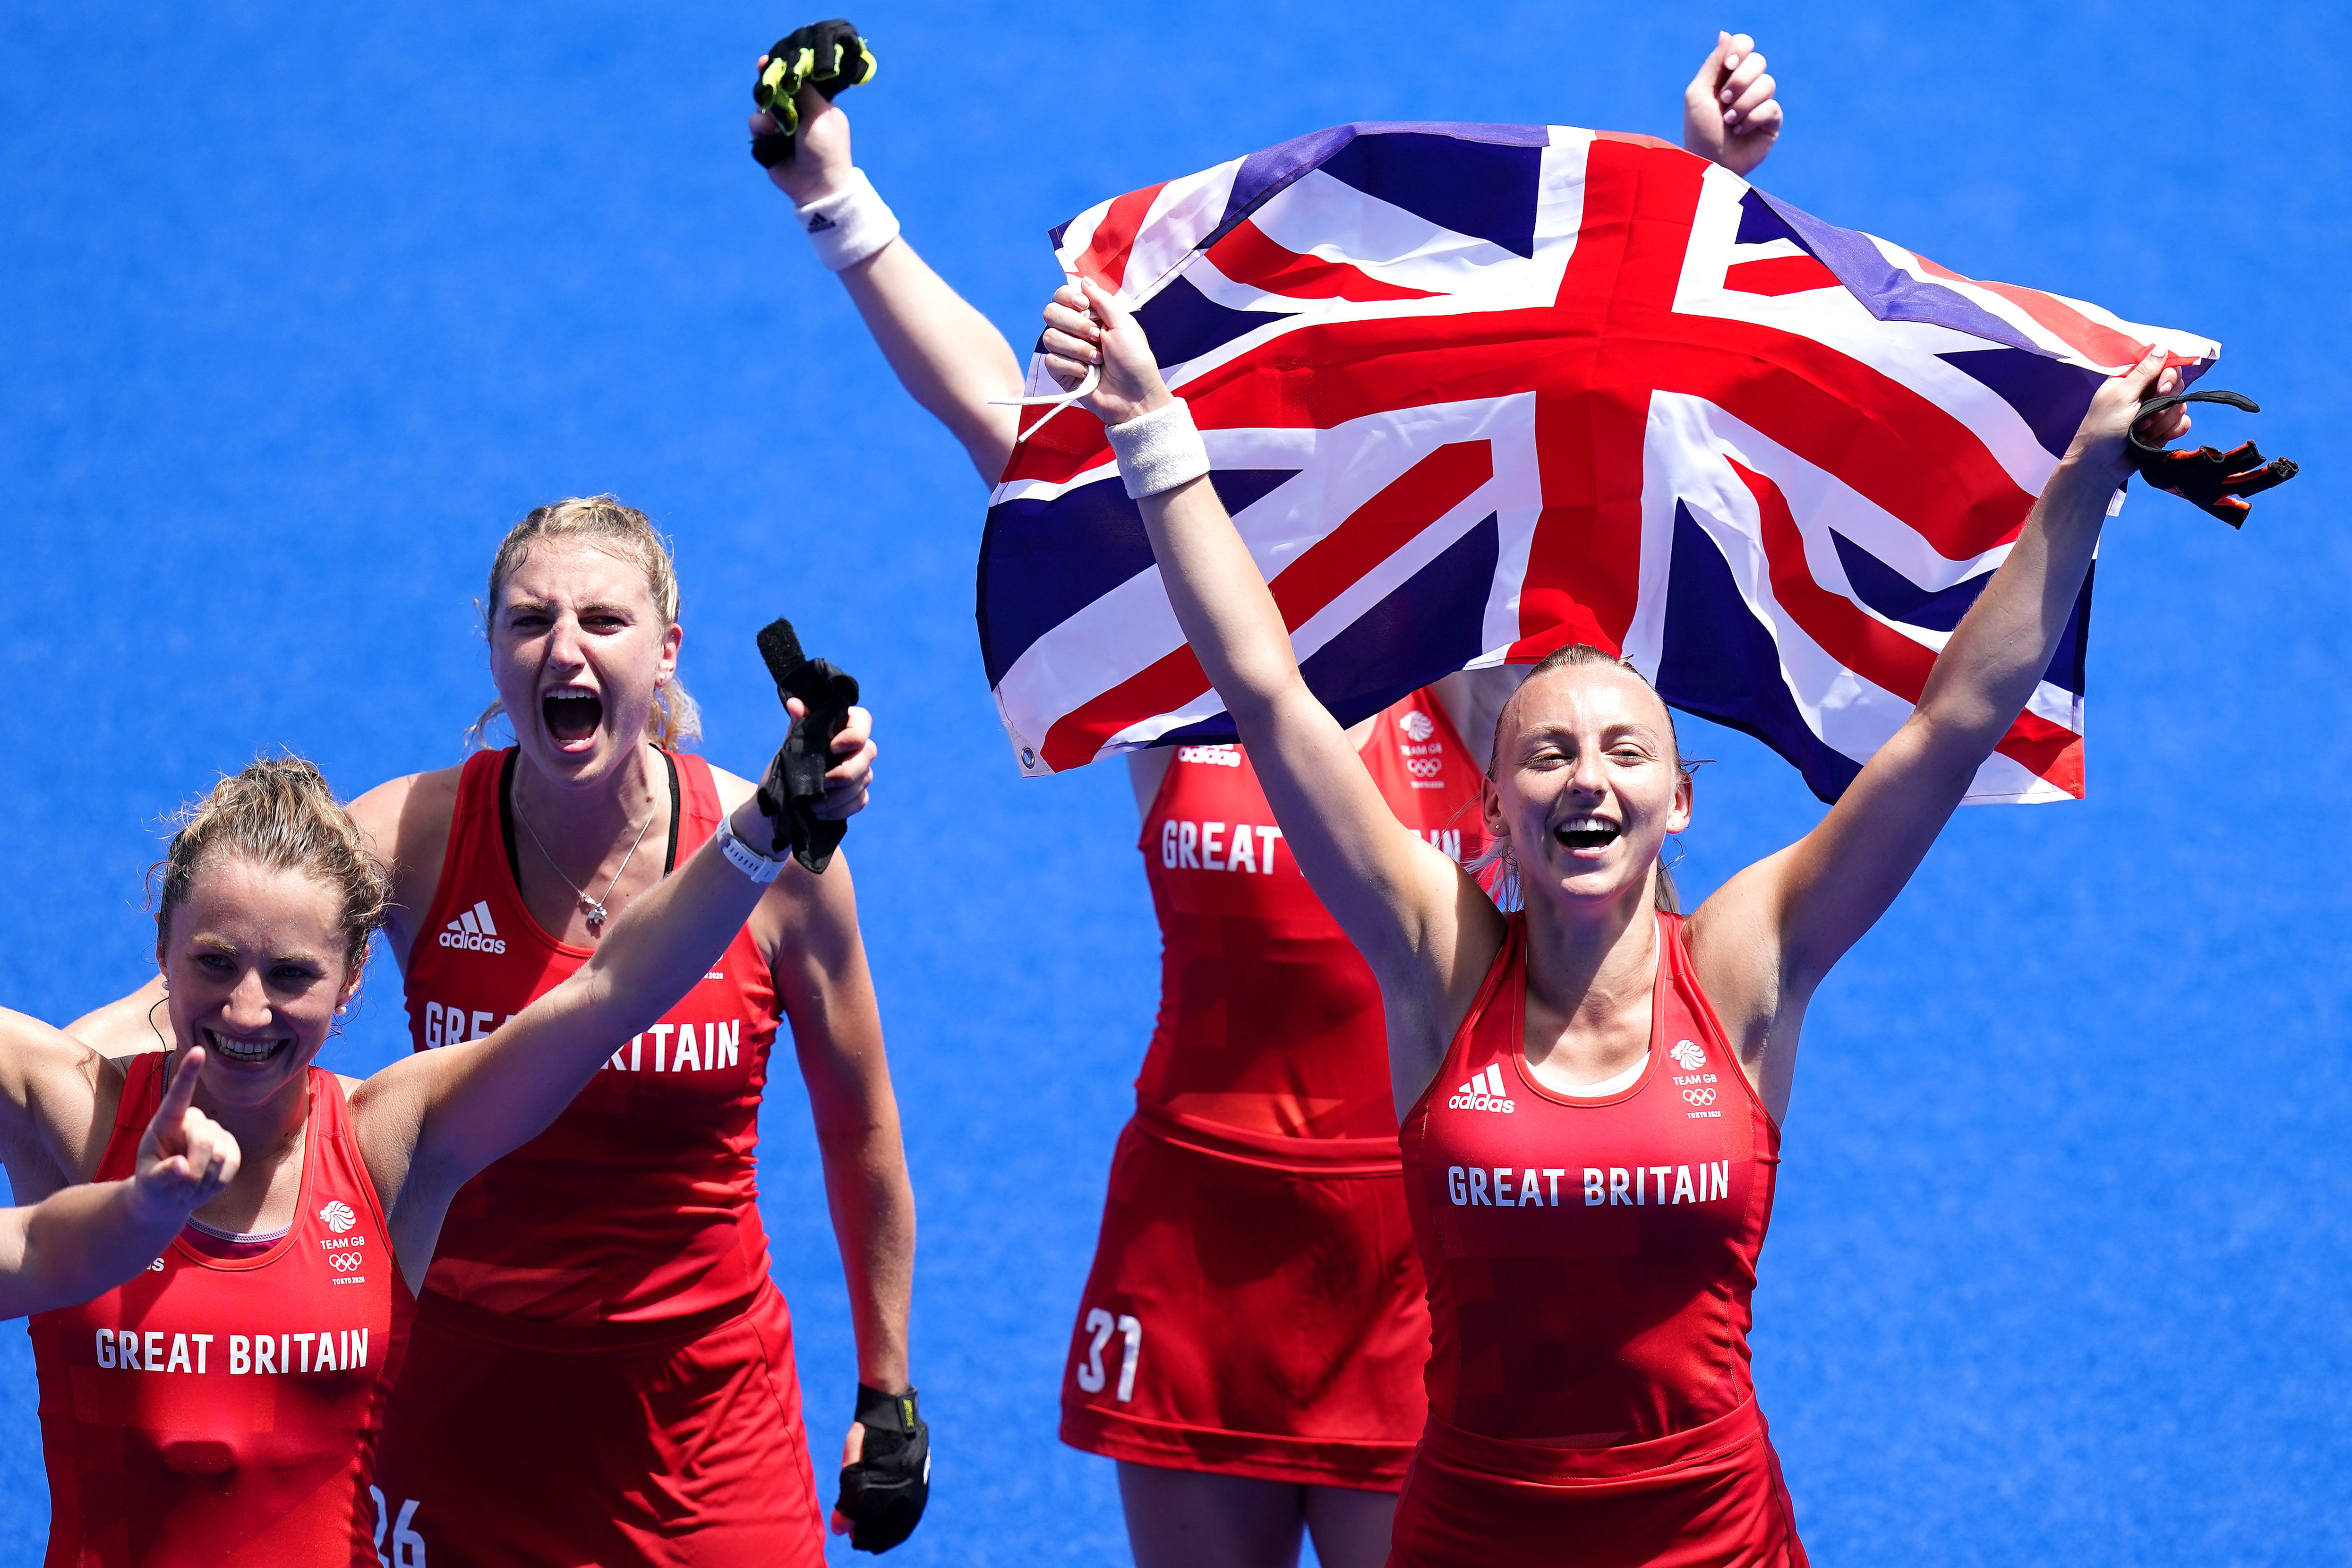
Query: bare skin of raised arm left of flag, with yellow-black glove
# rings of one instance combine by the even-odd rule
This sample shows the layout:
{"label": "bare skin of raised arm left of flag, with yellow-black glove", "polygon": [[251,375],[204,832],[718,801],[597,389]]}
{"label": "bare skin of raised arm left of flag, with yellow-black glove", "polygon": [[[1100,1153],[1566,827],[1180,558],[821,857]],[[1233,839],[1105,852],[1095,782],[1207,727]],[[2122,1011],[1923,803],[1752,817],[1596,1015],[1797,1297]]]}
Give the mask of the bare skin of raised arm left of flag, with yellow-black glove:
{"label": "bare skin of raised arm left of flag, with yellow-black glove", "polygon": [[[774,120],[753,115],[753,134],[769,129]],[[842,190],[849,172],[849,115],[802,87],[795,153],[769,169],[769,179],[804,207]],[[1021,395],[1021,362],[1004,334],[950,289],[906,235],[842,270],[840,280],[898,386],[948,425],[981,480],[995,484],[1014,451],[1018,409],[993,409],[988,400]]]}

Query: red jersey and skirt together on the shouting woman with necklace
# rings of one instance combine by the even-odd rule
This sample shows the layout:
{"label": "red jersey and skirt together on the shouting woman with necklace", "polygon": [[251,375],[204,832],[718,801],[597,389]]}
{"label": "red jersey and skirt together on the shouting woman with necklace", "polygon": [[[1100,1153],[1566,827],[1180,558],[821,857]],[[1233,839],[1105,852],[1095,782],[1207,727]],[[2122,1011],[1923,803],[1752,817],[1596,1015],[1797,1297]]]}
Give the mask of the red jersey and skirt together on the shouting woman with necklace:
{"label": "red jersey and skirt together on the shouting woman with necklace", "polygon": [[[724,813],[701,757],[663,762],[675,865]],[[590,957],[550,938],[515,886],[513,766],[515,752],[477,752],[459,783],[409,954],[419,1051],[489,1032]],[[388,1507],[414,1505],[435,1549],[480,1563],[823,1561],[793,1324],[753,1180],[776,1027],[767,961],[739,931],[684,1001],[616,1041],[555,1126],[449,1204],[379,1462]],[[779,1559],[779,1540],[800,1556]]]}

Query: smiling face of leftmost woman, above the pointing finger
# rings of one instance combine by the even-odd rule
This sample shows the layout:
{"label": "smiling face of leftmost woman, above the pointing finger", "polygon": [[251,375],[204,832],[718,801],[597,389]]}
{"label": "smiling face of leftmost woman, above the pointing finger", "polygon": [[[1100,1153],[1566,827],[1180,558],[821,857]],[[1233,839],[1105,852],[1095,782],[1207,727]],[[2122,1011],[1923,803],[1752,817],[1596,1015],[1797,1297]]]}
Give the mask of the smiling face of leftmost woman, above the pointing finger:
{"label": "smiling face of leftmost woman, above the pointing finger", "polygon": [[162,940],[172,1039],[205,1046],[200,1098],[254,1107],[306,1084],[334,1009],[360,985],[343,891],[306,870],[216,856]]}

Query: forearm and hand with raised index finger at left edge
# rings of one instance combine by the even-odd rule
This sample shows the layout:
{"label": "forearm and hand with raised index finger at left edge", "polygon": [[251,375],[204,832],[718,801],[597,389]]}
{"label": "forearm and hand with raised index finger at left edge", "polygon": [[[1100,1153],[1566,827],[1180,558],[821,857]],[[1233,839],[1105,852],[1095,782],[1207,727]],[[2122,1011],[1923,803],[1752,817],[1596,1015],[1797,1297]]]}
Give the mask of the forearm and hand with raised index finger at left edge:
{"label": "forearm and hand with raised index finger at left edge", "polygon": [[205,1048],[191,1046],[120,1182],[0,1208],[0,1316],[71,1307],[113,1291],[162,1255],[188,1215],[238,1173],[238,1140],[191,1103]]}

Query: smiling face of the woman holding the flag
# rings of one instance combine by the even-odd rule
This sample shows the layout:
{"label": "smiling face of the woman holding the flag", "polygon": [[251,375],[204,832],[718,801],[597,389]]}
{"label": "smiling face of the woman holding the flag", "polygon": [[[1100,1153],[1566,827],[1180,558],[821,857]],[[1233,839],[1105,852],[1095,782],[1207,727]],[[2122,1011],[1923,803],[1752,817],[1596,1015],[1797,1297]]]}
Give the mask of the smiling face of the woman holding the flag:
{"label": "smiling face of the woman holding the flag", "polygon": [[1665,703],[1613,663],[1545,670],[1512,696],[1486,783],[1529,905],[1649,898],[1665,835],[1691,820]]}

